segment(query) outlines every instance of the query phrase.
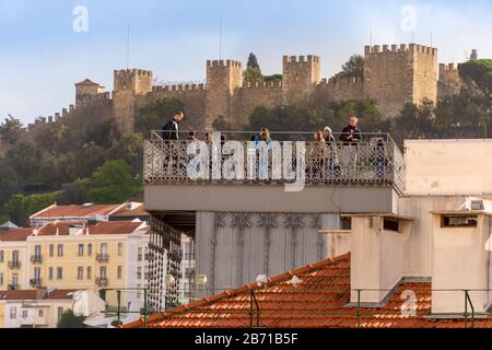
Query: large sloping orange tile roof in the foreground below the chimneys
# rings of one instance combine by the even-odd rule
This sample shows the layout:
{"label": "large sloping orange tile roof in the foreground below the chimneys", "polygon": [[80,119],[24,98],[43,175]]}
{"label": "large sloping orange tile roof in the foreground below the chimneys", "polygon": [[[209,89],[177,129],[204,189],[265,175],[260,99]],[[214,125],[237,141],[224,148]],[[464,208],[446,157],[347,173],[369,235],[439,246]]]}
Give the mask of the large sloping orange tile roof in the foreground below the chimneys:
{"label": "large sloping orange tile roof in the foreground below the chimneys", "polygon": [[[297,276],[294,288],[290,280]],[[350,302],[350,254],[309,265],[257,283],[226,291],[148,318],[154,328],[241,328],[250,325],[250,290],[259,304],[259,327],[265,328],[352,328],[358,326],[356,307]],[[401,313],[401,293],[412,290],[417,315]],[[255,305],[255,304],[254,304]],[[253,307],[256,327],[256,307]],[[431,283],[402,283],[384,307],[362,308],[360,326],[365,328],[462,328],[462,319],[427,319],[431,313]],[[125,325],[143,327],[143,320]],[[491,327],[492,318],[476,319],[476,327]]]}

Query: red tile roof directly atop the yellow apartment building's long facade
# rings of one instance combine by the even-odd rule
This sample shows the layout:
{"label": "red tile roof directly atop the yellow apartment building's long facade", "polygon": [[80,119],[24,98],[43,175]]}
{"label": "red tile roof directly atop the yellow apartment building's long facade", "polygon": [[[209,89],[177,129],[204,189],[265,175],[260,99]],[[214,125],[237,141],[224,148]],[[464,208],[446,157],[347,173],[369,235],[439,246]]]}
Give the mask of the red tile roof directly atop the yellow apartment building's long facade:
{"label": "red tile roof directly atop the yellow apartment building's long facade", "polygon": [[142,223],[131,221],[108,221],[98,222],[93,225],[86,225],[82,222],[52,222],[44,225],[38,231],[38,236],[52,236],[57,232],[59,235],[68,235],[71,225],[80,225],[84,228],[83,234],[86,233],[89,228],[89,234],[130,234],[133,233]]}

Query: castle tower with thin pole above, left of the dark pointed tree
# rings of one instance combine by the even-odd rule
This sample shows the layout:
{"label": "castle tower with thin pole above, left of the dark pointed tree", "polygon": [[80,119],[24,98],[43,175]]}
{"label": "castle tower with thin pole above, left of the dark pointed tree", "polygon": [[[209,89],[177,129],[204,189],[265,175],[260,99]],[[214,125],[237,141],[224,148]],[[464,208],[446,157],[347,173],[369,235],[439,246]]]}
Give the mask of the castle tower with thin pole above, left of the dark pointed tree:
{"label": "castle tower with thin pole above, left of the dark pointed tree", "polygon": [[[209,129],[220,115],[231,115],[231,104],[237,89],[243,86],[241,62],[227,59],[207,61],[206,127]],[[233,124],[235,120],[231,120]]]}

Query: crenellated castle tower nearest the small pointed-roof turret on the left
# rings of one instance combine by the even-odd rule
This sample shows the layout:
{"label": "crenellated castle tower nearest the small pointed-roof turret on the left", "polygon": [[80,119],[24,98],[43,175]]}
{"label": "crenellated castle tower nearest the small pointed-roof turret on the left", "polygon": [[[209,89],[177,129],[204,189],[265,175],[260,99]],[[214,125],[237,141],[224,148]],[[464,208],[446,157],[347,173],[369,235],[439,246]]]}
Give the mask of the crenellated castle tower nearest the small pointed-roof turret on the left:
{"label": "crenellated castle tower nearest the small pointed-roof turret on the left", "polygon": [[140,69],[115,70],[113,112],[121,132],[133,131],[136,97],[151,91],[152,71]]}

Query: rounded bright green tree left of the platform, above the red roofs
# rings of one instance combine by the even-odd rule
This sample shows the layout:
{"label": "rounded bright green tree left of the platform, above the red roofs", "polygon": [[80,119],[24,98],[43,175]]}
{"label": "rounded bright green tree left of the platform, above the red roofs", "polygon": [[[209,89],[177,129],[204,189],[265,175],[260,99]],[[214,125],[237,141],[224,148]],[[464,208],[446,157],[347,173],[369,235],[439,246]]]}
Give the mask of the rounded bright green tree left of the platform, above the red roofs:
{"label": "rounded bright green tree left of the platform, above the red roofs", "polygon": [[122,160],[106,162],[91,177],[89,200],[95,203],[122,202],[142,192],[140,178],[131,175]]}

